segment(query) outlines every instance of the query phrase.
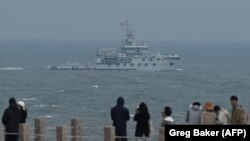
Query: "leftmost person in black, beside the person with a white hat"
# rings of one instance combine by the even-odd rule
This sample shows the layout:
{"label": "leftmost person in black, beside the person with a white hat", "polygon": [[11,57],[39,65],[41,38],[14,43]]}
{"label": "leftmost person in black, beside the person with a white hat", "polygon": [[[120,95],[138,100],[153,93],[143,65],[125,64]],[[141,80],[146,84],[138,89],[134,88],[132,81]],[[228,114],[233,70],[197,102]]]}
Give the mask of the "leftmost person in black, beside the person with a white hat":
{"label": "leftmost person in black, beside the person with a white hat", "polygon": [[16,99],[11,97],[9,99],[9,107],[5,109],[2,117],[2,122],[5,126],[6,133],[15,133],[16,135],[5,135],[5,141],[18,140],[18,126],[21,123],[21,114],[18,109]]}

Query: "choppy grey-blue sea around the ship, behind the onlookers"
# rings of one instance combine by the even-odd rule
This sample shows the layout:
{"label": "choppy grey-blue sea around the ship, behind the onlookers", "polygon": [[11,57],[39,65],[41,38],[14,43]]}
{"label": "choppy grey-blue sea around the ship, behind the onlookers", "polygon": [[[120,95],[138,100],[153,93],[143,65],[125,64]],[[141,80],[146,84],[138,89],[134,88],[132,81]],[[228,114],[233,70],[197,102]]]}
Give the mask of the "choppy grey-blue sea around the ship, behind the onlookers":
{"label": "choppy grey-blue sea around the ship, behind the onlookers", "polygon": [[84,135],[102,136],[102,128],[112,124],[111,107],[123,96],[131,115],[128,136],[134,136],[135,108],[145,102],[156,140],[165,106],[171,106],[176,124],[185,123],[193,101],[211,101],[230,111],[229,98],[236,95],[249,111],[249,42],[149,42],[152,52],[180,55],[176,71],[47,69],[49,65],[94,63],[97,49],[117,46],[115,41],[1,40],[0,113],[8,99],[15,97],[26,103],[27,123],[32,126],[36,118],[45,119],[47,130],[70,126],[72,118],[80,118],[89,127]]}

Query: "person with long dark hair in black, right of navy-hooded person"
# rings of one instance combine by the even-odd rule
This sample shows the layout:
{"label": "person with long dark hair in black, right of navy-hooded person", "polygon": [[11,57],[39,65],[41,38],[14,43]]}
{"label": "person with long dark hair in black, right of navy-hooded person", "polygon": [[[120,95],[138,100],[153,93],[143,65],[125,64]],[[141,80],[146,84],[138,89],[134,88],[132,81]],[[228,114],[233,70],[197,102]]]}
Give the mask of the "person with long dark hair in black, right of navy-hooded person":
{"label": "person with long dark hair in black, right of navy-hooded person", "polygon": [[148,107],[145,103],[140,103],[136,114],[134,116],[134,121],[136,121],[135,136],[136,137],[149,137],[149,122],[150,114],[148,112]]}

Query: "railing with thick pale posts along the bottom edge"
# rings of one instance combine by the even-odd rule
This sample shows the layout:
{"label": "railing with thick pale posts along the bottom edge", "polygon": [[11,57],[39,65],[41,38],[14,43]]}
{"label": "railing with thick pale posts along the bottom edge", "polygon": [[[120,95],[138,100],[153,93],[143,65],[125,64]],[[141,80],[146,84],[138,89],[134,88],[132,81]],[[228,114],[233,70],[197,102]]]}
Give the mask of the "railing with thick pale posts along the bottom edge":
{"label": "railing with thick pale posts along the bottom edge", "polygon": [[[84,130],[102,130],[103,135],[83,135]],[[49,130],[49,132],[46,132]],[[69,133],[70,130],[70,133]],[[83,127],[79,119],[71,119],[71,125],[60,125],[56,127],[45,127],[44,119],[35,119],[34,127],[28,123],[19,124],[18,133],[4,132],[4,126],[0,124],[0,141],[4,141],[5,135],[17,135],[19,141],[115,141],[116,139],[127,138],[133,141],[152,141],[150,137],[115,136],[115,127]],[[46,133],[45,133],[46,132]],[[159,129],[159,141],[165,140],[164,128]]]}

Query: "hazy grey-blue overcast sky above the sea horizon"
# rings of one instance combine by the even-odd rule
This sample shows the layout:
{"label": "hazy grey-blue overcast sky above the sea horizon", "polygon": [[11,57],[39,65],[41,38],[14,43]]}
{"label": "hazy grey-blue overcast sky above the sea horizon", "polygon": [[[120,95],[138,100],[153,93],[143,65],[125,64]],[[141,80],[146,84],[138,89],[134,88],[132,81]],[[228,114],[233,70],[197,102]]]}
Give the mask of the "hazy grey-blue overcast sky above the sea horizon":
{"label": "hazy grey-blue overcast sky above the sea horizon", "polygon": [[0,39],[250,41],[250,0],[0,0]]}

